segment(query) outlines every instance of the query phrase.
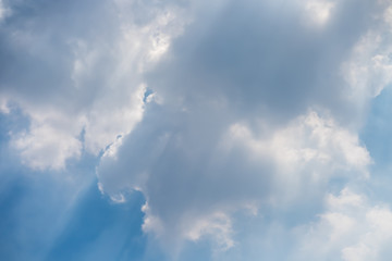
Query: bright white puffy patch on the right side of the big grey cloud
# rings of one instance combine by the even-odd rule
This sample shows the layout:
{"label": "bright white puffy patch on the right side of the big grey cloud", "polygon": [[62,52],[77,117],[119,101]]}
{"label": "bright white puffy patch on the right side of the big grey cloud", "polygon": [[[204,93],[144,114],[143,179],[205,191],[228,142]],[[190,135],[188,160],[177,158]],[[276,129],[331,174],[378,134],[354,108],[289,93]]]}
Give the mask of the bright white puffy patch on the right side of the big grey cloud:
{"label": "bright white puffy patch on the right side of the big grey cloud", "polygon": [[369,153],[359,145],[355,134],[338,126],[333,119],[321,117],[313,110],[293,120],[287,127],[275,130],[272,137],[256,139],[249,128],[234,124],[230,127],[228,138],[232,141],[224,140],[225,146],[236,141],[253,150],[254,157],[272,156],[282,167],[310,161],[341,163],[356,169],[370,163]]}

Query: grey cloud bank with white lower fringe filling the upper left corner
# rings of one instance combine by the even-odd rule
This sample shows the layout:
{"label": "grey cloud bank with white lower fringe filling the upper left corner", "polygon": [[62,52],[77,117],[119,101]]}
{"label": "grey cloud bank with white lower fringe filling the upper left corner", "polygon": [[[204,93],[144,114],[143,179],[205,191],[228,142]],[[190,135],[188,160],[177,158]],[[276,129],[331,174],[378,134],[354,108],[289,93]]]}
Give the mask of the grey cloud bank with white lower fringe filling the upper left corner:
{"label": "grey cloud bank with white lower fringe filling the upper left corner", "polygon": [[12,15],[0,25],[2,108],[16,104],[30,120],[13,137],[27,165],[60,170],[82,149],[98,154],[132,130],[144,110],[140,74],[186,23],[173,22],[181,10],[170,5],[9,3]]}

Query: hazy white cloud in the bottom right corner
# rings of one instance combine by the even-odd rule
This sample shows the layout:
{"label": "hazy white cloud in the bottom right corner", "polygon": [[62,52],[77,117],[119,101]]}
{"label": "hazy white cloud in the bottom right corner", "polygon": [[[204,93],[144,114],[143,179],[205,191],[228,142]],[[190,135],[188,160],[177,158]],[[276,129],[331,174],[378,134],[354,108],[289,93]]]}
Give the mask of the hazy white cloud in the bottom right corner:
{"label": "hazy white cloud in the bottom right corner", "polygon": [[392,243],[391,217],[388,206],[371,204],[366,196],[348,188],[339,196],[329,195],[327,211],[305,229],[297,258],[385,260],[380,253]]}

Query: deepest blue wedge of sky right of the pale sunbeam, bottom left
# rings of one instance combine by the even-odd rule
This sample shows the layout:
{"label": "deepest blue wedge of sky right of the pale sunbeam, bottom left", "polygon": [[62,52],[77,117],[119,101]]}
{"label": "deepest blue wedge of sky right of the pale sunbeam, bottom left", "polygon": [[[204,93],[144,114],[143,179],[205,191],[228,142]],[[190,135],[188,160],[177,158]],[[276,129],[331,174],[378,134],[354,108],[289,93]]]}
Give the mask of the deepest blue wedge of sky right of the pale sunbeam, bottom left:
{"label": "deepest blue wedge of sky right of the pale sunbeam, bottom left", "polygon": [[140,260],[146,245],[142,232],[144,198],[110,202],[91,184],[46,260]]}

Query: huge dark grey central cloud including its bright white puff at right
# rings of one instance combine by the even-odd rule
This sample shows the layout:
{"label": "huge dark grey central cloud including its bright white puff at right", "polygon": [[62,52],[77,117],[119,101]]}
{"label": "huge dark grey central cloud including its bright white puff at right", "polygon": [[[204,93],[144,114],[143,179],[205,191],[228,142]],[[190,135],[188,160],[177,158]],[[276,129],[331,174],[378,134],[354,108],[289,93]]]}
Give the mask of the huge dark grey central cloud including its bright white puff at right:
{"label": "huge dark grey central cloud including its bright white puff at right", "polygon": [[98,169],[109,195],[145,194],[146,231],[175,241],[217,211],[307,204],[334,178],[368,175],[354,126],[373,94],[364,89],[358,105],[342,70],[372,26],[370,3],[350,20],[354,3],[336,3],[323,27],[304,24],[303,2],[291,4],[305,13],[279,1],[213,10],[147,74],[159,100]]}

